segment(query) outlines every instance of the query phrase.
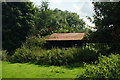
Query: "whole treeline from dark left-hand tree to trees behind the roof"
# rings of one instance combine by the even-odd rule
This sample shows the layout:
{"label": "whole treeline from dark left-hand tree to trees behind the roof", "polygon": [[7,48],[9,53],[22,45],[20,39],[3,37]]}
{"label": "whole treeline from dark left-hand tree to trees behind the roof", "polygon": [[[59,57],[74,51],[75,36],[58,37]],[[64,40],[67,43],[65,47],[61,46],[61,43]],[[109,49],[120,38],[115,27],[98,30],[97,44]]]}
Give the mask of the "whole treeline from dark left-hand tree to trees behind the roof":
{"label": "whole treeline from dark left-hand tree to trees behind the roof", "polygon": [[57,8],[51,10],[46,1],[40,7],[34,6],[32,2],[4,2],[2,16],[2,47],[10,53],[31,35],[90,31],[77,13]]}

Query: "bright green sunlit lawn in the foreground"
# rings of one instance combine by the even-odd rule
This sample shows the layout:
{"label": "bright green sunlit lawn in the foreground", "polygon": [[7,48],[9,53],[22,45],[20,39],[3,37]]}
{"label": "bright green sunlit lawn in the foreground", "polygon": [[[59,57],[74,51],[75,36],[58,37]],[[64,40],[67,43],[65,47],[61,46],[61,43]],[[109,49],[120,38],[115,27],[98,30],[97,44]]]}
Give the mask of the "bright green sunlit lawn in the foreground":
{"label": "bright green sunlit lawn in the foreground", "polygon": [[3,62],[3,78],[76,78],[84,71],[83,64],[69,66],[34,65]]}

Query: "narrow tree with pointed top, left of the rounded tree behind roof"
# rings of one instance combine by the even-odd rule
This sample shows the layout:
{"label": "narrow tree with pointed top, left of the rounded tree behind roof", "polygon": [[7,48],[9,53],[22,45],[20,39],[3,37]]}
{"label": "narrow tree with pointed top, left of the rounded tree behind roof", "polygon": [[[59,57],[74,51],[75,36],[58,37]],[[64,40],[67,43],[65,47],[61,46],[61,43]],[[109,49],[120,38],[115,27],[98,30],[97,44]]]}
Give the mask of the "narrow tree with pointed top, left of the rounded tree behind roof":
{"label": "narrow tree with pointed top, left of the rounded tree behind roof", "polygon": [[49,2],[44,0],[40,7],[36,7],[35,12],[35,26],[36,34],[45,36],[49,34],[48,29],[50,28],[50,20],[52,10],[48,8]]}

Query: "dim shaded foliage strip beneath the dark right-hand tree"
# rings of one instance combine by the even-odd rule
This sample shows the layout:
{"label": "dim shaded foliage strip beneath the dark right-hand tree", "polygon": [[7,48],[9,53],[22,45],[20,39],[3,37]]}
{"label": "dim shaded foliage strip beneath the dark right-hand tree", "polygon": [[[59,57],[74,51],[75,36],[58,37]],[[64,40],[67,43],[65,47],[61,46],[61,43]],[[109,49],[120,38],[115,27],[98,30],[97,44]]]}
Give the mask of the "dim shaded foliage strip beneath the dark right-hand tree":
{"label": "dim shaded foliage strip beneath the dark right-hand tree", "polygon": [[86,45],[102,55],[120,54],[120,43],[87,43]]}

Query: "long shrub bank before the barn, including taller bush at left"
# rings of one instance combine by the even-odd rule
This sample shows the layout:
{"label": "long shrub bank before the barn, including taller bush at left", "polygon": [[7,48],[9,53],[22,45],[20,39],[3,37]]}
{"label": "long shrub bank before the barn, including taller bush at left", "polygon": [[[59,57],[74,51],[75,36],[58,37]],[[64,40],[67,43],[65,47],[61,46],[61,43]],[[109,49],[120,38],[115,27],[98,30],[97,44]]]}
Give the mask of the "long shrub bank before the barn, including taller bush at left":
{"label": "long shrub bank before the barn, including taller bush at left", "polygon": [[44,37],[31,36],[27,38],[21,48],[16,49],[11,62],[66,65],[76,62],[90,63],[97,60],[99,55],[93,47],[88,45],[71,48],[51,47],[51,45],[46,44]]}

